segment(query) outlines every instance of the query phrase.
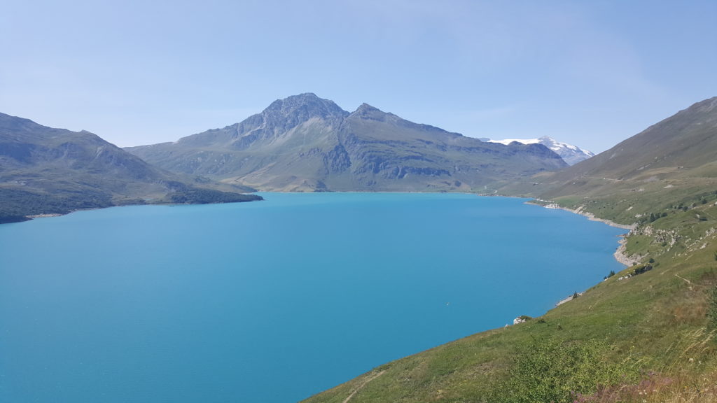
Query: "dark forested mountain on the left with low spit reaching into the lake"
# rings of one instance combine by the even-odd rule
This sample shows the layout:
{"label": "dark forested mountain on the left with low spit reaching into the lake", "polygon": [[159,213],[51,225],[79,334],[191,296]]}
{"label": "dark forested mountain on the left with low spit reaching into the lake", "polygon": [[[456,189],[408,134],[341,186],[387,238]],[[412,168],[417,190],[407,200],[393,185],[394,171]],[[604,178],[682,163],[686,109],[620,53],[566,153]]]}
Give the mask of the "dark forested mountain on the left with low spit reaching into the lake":
{"label": "dark forested mountain on the left with low spit reaching into the lake", "polygon": [[0,113],[0,222],[118,204],[260,199],[242,190],[250,189],[158,169],[87,131]]}

